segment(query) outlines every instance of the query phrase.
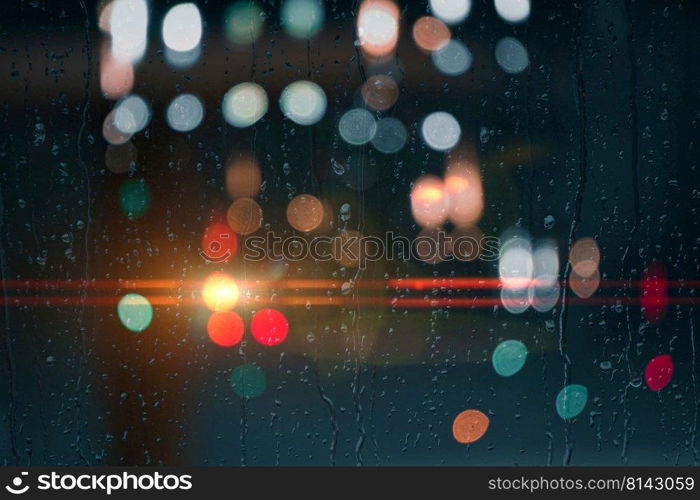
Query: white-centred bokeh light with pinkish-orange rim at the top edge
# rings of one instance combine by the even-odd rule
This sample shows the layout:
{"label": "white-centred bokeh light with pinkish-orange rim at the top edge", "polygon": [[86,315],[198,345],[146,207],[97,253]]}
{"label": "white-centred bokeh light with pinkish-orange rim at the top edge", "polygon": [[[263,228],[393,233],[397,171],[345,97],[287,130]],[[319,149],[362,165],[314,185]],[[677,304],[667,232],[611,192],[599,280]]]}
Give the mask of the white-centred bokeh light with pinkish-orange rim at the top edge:
{"label": "white-centred bokeh light with pinkish-orange rim at the top edge", "polygon": [[357,16],[357,38],[371,56],[386,56],[399,39],[399,8],[389,0],[365,0]]}

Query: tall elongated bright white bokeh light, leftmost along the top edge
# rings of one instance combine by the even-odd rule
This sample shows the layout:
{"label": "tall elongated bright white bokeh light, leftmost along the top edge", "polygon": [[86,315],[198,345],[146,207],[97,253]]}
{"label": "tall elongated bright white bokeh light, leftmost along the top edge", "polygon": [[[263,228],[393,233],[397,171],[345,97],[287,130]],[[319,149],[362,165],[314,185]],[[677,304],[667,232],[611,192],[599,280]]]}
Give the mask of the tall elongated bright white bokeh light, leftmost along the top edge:
{"label": "tall elongated bright white bokeh light, leftmost along the top edge", "polygon": [[145,0],[115,0],[109,16],[112,54],[120,61],[134,62],[146,51],[148,5]]}

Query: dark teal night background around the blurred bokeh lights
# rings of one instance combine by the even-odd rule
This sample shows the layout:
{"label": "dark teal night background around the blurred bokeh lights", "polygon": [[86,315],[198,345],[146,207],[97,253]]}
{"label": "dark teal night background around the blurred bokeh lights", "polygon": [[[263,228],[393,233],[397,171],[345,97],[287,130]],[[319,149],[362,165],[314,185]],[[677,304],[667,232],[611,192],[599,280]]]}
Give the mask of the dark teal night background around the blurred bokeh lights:
{"label": "dark teal night background around the blurred bokeh lights", "polygon": [[[350,220],[336,217],[338,224],[415,236],[411,183],[444,166],[444,155],[418,133],[422,117],[436,109],[455,115],[480,164],[485,234],[519,225],[533,238],[555,240],[562,263],[573,240],[594,237],[604,280],[639,280],[655,260],[671,280],[698,278],[700,3],[533,0],[529,20],[513,26],[491,1],[474,0],[468,19],[453,28],[474,63],[446,77],[410,37],[427,2],[399,2],[402,34],[388,70],[400,96],[388,114],[403,121],[409,140],[395,155],[350,147],[338,136],[337,120],[358,103],[368,71],[353,41],[357,5],[325,2],[326,24],[307,44],[280,30],[276,2],[260,2],[265,32],[254,47],[235,48],[222,36],[227,4],[200,0],[202,55],[175,71],[164,61],[159,26],[177,2],[152,3],[148,52],[133,91],[150,101],[153,120],[133,139],[136,168],[119,175],[105,167],[102,122],[113,102],[100,93],[97,4],[10,0],[0,7],[2,280],[202,279],[214,266],[198,255],[201,234],[212,211],[227,206],[224,165],[240,152],[258,159],[265,223],[281,234],[291,234],[284,221],[290,197],[311,193],[336,215],[350,205]],[[503,36],[527,47],[525,72],[511,76],[497,66],[493,49]],[[281,89],[299,79],[314,80],[328,96],[328,111],[313,127],[284,120],[276,104]],[[270,110],[255,126],[234,129],[222,119],[221,97],[250,80],[265,88]],[[187,134],[163,118],[184,91],[201,96],[206,108],[202,125]],[[153,193],[150,210],[136,220],[119,210],[129,176],[145,179]],[[553,224],[545,224],[549,216]],[[240,260],[228,270],[262,273]],[[286,273],[345,279],[355,271],[304,262]],[[402,276],[493,277],[497,270],[484,262],[380,262],[360,281]],[[628,300],[638,289],[599,293],[619,300],[522,315],[502,307],[288,307],[290,335],[274,349],[251,340],[233,349],[211,344],[207,311],[184,302],[156,306],[151,326],[134,334],[113,307],[5,300],[2,460],[697,465],[700,318],[692,305],[672,305],[650,324]],[[4,286],[5,297],[26,294]],[[490,356],[509,338],[522,340],[529,357],[518,375],[501,378]],[[673,356],[675,374],[654,393],[642,373],[662,353]],[[229,385],[243,360],[267,376],[258,398],[241,399]],[[585,410],[569,422],[554,409],[565,380],[589,391]],[[451,434],[465,408],[491,420],[469,446]]]}

